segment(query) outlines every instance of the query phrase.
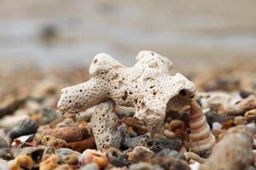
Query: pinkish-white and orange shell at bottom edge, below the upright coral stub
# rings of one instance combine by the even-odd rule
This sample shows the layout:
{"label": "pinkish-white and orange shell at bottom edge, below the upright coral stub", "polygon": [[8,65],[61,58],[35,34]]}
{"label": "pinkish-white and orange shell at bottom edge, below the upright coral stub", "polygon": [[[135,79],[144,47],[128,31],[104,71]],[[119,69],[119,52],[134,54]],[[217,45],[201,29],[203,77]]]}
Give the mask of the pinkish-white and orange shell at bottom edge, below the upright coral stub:
{"label": "pinkish-white and orange shell at bottom edge, below the upright coral stub", "polygon": [[95,162],[102,169],[107,165],[108,157],[106,154],[96,150],[84,150],[82,156],[79,157],[79,164],[84,166],[91,162]]}

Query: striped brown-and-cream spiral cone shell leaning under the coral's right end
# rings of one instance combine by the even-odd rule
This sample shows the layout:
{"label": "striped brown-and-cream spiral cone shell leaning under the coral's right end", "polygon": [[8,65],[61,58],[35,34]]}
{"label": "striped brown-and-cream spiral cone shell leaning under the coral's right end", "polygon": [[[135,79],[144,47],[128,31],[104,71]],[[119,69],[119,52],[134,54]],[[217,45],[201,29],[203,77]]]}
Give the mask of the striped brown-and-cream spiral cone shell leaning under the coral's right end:
{"label": "striped brown-and-cream spiral cone shell leaning under the coral's right end", "polygon": [[195,153],[212,148],[215,143],[215,137],[210,131],[207,124],[206,116],[201,111],[201,106],[195,100],[190,103],[189,126],[191,133],[189,134],[189,142],[187,147]]}

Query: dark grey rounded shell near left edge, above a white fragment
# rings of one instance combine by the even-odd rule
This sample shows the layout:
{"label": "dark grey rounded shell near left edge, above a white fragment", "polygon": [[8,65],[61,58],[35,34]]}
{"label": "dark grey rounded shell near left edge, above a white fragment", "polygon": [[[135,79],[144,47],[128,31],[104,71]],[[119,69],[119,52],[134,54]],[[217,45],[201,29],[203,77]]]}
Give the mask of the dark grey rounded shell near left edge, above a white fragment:
{"label": "dark grey rounded shell near left edge, above a white fragment", "polygon": [[18,138],[22,135],[36,133],[38,130],[38,125],[31,119],[23,119],[15,124],[9,132],[9,137],[11,139]]}

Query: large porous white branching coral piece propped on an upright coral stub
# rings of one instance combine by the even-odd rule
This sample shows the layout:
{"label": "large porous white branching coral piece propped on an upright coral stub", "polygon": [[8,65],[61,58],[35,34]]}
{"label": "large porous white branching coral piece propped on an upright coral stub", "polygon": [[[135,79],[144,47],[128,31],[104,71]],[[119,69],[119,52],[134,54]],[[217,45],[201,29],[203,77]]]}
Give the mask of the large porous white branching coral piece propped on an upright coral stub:
{"label": "large porous white branching coral piece propped on an upright coral stub", "polygon": [[90,80],[62,89],[58,108],[79,112],[113,99],[117,105],[134,106],[135,116],[148,123],[149,131],[159,129],[166,109],[177,109],[181,99],[193,97],[195,85],[179,73],[170,76],[172,62],[159,54],[143,51],[137,59],[127,68],[108,54],[97,54],[90,65]]}

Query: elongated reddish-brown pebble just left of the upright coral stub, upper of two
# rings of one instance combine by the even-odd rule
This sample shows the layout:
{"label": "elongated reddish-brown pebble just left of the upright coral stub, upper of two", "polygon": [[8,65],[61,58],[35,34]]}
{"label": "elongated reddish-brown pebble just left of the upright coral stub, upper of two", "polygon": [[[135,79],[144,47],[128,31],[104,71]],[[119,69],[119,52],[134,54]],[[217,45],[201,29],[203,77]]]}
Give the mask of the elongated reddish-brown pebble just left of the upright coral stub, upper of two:
{"label": "elongated reddish-brown pebble just left of the upright coral stub, upper of two", "polygon": [[90,134],[85,127],[59,127],[54,129],[45,129],[43,134],[53,136],[56,139],[63,139],[67,143],[81,141],[90,137]]}

